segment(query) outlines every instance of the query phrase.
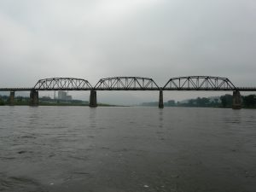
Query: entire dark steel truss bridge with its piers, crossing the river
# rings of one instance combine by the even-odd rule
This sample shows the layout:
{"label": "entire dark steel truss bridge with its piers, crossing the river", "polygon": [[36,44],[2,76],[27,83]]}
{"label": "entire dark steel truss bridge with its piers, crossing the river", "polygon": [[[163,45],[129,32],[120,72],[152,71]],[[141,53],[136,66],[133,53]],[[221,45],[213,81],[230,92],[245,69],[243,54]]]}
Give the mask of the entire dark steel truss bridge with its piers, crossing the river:
{"label": "entire dark steel truss bridge with its piers, crossing the river", "polygon": [[41,90],[90,90],[90,107],[96,108],[97,90],[158,90],[159,108],[164,108],[163,91],[167,90],[205,90],[233,91],[233,108],[241,108],[240,91],[256,91],[256,87],[237,87],[228,78],[213,76],[187,76],[169,79],[160,87],[154,79],[143,77],[113,77],[100,79],[92,86],[86,79],[50,78],[39,79],[33,87],[0,88],[0,91],[10,91],[9,104],[15,103],[15,91],[30,91],[32,106],[38,105],[38,91]]}

